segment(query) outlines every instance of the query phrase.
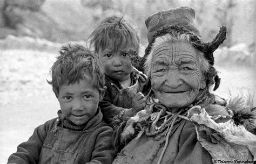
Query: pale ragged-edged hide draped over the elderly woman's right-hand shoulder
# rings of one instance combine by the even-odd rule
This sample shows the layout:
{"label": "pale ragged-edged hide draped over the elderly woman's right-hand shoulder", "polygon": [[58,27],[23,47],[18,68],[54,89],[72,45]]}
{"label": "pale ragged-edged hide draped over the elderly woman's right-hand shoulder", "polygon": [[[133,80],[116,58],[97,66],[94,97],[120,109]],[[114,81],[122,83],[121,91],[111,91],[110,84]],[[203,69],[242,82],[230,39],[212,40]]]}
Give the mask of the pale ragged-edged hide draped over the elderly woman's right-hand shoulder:
{"label": "pale ragged-edged hide draped over the elderly woman's right-hand shoulder", "polygon": [[[215,122],[214,119],[217,117],[211,118],[200,106],[194,106],[188,112],[191,116],[190,120],[196,126],[198,140],[210,152],[213,161],[255,160],[256,136],[248,132],[244,126],[234,125],[232,119]],[[224,113],[218,115],[218,118],[226,117]]]}

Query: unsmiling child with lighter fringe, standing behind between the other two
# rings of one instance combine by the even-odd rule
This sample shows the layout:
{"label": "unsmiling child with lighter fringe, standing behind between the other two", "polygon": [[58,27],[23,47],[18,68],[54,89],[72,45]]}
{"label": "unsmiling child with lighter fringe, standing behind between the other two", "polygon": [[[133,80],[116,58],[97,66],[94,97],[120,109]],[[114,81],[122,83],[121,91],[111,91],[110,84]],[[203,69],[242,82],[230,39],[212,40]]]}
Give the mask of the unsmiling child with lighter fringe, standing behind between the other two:
{"label": "unsmiling child with lighter fringe, standing behind between the other two", "polygon": [[142,110],[145,97],[140,91],[146,76],[132,65],[139,57],[136,30],[123,17],[107,17],[90,34],[88,42],[105,73],[107,90],[99,104],[104,120],[111,123],[114,116],[131,117]]}

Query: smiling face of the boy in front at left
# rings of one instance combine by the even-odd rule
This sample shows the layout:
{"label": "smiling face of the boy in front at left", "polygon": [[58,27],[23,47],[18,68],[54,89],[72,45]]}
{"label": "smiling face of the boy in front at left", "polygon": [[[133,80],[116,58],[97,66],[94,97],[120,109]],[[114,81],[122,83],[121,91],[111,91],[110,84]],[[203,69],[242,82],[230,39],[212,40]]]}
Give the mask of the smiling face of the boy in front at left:
{"label": "smiling face of the boy in front at left", "polygon": [[98,89],[88,78],[74,84],[62,85],[58,101],[67,119],[76,125],[83,125],[95,116],[101,98]]}

